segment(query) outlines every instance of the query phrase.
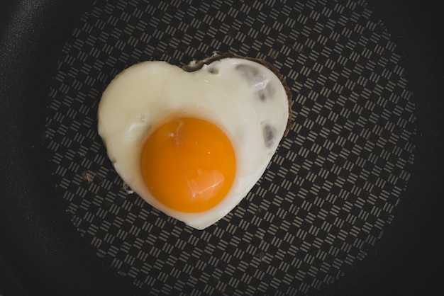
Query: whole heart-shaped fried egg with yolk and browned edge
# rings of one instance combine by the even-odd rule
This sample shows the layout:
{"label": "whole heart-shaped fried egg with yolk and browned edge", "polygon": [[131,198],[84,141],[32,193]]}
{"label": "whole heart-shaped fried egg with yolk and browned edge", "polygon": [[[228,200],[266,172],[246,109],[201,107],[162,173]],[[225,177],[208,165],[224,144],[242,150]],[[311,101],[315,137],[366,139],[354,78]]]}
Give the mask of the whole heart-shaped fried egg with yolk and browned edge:
{"label": "whole heart-shaped fried egg with yolk and browned edge", "polygon": [[196,229],[220,220],[262,176],[291,120],[275,67],[216,53],[179,68],[141,62],[104,91],[98,131],[123,181]]}

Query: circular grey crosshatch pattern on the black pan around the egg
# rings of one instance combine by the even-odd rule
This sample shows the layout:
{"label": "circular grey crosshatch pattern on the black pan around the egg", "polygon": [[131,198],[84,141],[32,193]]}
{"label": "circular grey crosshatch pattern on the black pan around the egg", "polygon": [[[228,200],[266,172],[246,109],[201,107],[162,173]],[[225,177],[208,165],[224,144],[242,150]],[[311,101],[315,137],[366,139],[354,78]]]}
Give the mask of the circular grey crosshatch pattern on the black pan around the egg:
{"label": "circular grey crosshatch pattern on the black pan around the egg", "polygon": [[[303,295],[382,236],[413,161],[414,103],[396,46],[365,1],[98,0],[67,41],[45,143],[80,234],[157,294]],[[127,193],[96,132],[113,76],[143,60],[182,66],[214,50],[276,65],[294,120],[266,173],[197,231]]]}

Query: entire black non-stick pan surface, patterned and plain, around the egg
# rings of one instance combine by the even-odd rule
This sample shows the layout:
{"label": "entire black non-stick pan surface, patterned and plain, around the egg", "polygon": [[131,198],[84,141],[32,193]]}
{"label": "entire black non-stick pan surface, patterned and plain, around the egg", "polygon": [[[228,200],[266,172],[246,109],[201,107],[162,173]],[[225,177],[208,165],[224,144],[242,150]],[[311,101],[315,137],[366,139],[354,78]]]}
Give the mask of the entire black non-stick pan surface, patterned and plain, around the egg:
{"label": "entire black non-stick pan surface, patterned and plain, around the egg", "polygon": [[[433,9],[65,2],[2,8],[0,246],[30,295],[433,287],[443,161]],[[294,122],[248,197],[199,232],[126,194],[95,112],[131,64],[181,65],[212,50],[276,64],[293,91]]]}

